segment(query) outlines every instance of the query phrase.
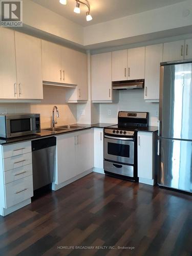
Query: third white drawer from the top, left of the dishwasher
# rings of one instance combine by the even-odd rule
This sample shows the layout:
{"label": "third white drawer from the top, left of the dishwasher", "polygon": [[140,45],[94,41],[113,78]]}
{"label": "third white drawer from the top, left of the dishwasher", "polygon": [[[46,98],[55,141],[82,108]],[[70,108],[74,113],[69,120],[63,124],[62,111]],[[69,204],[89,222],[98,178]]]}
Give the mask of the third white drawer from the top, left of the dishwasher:
{"label": "third white drawer from the top, left of the dishwasher", "polygon": [[4,184],[32,175],[32,164],[18,167],[4,172]]}

